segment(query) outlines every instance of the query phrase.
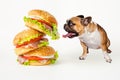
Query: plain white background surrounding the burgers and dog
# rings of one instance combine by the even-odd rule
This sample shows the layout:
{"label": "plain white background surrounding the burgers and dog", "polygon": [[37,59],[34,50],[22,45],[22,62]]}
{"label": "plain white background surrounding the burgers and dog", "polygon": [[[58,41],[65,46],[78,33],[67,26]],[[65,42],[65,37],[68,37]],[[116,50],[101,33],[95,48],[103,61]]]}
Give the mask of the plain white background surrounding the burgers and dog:
{"label": "plain white background surrounding the burgers and dog", "polygon": [[[120,2],[119,0],[1,0],[0,1],[0,80],[120,80]],[[14,36],[26,29],[23,17],[31,9],[43,9],[58,21],[60,36],[66,32],[66,19],[83,14],[92,16],[111,40],[112,63],[106,63],[101,50],[91,50],[85,61],[78,38],[50,40],[59,52],[56,64],[22,66],[16,62]]]}

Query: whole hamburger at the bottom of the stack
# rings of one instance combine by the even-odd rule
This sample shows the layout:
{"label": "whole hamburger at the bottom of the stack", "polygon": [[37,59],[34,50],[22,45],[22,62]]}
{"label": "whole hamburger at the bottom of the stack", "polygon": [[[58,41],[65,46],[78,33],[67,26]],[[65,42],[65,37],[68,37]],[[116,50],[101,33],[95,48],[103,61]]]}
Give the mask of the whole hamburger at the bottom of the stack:
{"label": "whole hamburger at the bottom of the stack", "polygon": [[17,61],[23,65],[42,66],[54,64],[58,58],[57,52],[50,46],[43,46],[22,55],[18,55]]}

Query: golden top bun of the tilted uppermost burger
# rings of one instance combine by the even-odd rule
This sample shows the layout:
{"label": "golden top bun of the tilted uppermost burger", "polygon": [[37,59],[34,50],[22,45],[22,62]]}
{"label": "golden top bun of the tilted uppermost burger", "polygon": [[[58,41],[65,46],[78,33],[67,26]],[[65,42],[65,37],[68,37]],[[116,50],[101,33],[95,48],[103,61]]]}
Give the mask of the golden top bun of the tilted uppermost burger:
{"label": "golden top bun of the tilted uppermost burger", "polygon": [[57,21],[56,21],[55,17],[52,14],[50,14],[49,12],[44,11],[44,10],[38,10],[38,9],[31,10],[28,12],[28,16],[45,20],[49,24],[54,23],[57,25]]}

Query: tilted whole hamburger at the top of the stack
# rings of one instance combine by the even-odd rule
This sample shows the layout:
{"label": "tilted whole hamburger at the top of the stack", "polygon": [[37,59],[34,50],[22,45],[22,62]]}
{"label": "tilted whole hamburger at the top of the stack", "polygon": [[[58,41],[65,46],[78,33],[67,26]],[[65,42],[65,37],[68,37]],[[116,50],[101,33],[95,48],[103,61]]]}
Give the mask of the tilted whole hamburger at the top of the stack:
{"label": "tilted whole hamburger at the top of the stack", "polygon": [[47,11],[39,9],[31,10],[28,12],[28,16],[24,17],[24,22],[27,27],[47,34],[52,40],[59,39],[57,21]]}

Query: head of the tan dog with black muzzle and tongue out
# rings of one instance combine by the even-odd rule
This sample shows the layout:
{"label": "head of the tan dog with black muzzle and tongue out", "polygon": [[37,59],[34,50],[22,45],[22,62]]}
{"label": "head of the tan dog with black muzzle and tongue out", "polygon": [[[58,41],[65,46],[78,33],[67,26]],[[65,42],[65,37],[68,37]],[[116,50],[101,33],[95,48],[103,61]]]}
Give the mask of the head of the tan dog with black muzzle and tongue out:
{"label": "head of the tan dog with black muzzle and tongue out", "polygon": [[91,22],[91,17],[84,18],[83,15],[78,15],[67,20],[64,24],[64,30],[68,32],[63,37],[77,37],[84,33],[84,28]]}

